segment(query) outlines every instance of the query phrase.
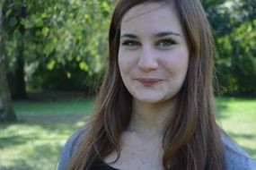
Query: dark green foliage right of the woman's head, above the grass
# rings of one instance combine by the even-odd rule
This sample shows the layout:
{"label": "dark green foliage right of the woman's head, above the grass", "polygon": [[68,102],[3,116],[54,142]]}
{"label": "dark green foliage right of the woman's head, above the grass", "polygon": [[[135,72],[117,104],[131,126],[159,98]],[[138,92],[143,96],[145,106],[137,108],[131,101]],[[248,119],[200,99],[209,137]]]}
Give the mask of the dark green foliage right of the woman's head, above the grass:
{"label": "dark green foliage right of the woman's head, above the grass", "polygon": [[221,94],[256,96],[255,1],[203,3],[216,33],[216,69]]}

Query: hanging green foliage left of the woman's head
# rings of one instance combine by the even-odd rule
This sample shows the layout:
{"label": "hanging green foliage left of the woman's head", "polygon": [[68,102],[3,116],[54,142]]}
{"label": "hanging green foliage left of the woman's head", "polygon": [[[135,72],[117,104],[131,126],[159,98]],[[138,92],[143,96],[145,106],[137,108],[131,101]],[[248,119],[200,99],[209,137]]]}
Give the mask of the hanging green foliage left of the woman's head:
{"label": "hanging green foliage left of the woman's head", "polygon": [[[22,5],[26,7],[26,17],[15,14]],[[21,38],[18,28],[23,26],[23,55],[29,88],[58,89],[63,81],[79,77],[81,72],[84,72],[84,79],[102,75],[106,67],[112,6],[111,0],[30,0],[23,4],[6,1],[4,16],[5,30],[9,30],[6,44],[10,72],[15,67],[17,39]],[[84,84],[79,86],[84,87]],[[69,87],[75,88],[72,82]]]}

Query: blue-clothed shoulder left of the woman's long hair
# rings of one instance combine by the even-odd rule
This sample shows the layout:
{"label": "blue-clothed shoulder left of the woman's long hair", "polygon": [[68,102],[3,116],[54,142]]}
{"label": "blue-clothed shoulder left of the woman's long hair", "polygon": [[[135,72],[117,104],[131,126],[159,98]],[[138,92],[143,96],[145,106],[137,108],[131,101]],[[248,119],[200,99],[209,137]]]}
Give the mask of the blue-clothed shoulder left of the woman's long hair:
{"label": "blue-clothed shoulder left of the woman's long hair", "polygon": [[67,141],[63,147],[58,163],[57,170],[66,170],[71,158],[75,155],[75,151],[78,149],[82,140],[84,140],[86,133],[89,131],[89,126],[85,126],[83,129],[75,132]]}

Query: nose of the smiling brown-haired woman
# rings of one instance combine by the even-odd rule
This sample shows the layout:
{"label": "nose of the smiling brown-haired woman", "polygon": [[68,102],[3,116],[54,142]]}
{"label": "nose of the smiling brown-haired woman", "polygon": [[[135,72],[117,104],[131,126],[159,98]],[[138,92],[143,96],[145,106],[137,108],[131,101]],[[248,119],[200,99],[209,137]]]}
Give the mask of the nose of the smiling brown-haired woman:
{"label": "nose of the smiling brown-haired woman", "polygon": [[155,58],[154,51],[150,47],[142,49],[137,65],[143,72],[150,72],[157,69],[158,63]]}

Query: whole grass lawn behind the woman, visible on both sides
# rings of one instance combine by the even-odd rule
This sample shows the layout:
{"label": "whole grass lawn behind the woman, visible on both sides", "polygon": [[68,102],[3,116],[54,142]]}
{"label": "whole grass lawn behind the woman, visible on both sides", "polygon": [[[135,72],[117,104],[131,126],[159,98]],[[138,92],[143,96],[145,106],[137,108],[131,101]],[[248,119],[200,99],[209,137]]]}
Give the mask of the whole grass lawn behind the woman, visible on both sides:
{"label": "whole grass lawn behind the woman, visible on both sides", "polygon": [[[225,131],[256,158],[256,98],[217,99]],[[0,124],[1,170],[53,170],[66,139],[93,111],[92,100],[15,102],[16,123]]]}

